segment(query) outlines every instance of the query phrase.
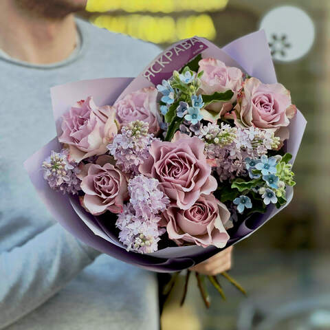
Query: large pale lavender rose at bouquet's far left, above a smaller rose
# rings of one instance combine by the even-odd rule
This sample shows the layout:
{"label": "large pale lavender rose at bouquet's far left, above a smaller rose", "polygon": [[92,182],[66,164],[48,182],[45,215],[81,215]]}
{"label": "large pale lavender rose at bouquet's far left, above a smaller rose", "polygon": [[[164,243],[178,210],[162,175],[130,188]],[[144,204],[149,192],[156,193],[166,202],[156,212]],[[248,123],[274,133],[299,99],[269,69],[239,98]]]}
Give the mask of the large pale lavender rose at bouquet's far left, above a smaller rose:
{"label": "large pale lavender rose at bouquet's far left, above a smaller rose", "polygon": [[93,98],[80,100],[63,115],[61,143],[69,148],[69,159],[82,159],[107,152],[107,145],[118,133],[115,111],[108,105],[97,107]]}

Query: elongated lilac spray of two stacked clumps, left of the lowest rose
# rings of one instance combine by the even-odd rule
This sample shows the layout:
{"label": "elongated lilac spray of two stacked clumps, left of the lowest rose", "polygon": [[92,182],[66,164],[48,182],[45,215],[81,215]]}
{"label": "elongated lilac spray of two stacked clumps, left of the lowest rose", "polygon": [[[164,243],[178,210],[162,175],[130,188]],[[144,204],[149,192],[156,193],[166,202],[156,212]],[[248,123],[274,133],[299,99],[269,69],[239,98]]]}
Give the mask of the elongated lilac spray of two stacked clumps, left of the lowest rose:
{"label": "elongated lilac spray of two stacked clumps, left of the lowest rose", "polygon": [[159,212],[166,210],[169,199],[158,188],[157,179],[137,175],[129,180],[129,203],[118,215],[116,226],[119,239],[126,249],[140,253],[157,251],[159,236],[165,230],[158,228]]}

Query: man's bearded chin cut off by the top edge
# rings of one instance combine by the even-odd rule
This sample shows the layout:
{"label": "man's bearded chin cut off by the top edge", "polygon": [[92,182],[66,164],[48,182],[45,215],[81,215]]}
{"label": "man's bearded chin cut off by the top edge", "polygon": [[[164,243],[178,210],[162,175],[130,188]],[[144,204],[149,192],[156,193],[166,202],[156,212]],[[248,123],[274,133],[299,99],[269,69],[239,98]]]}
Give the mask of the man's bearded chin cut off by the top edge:
{"label": "man's bearded chin cut off by the top edge", "polygon": [[63,19],[68,14],[85,10],[86,1],[72,0],[14,0],[17,6],[34,17]]}

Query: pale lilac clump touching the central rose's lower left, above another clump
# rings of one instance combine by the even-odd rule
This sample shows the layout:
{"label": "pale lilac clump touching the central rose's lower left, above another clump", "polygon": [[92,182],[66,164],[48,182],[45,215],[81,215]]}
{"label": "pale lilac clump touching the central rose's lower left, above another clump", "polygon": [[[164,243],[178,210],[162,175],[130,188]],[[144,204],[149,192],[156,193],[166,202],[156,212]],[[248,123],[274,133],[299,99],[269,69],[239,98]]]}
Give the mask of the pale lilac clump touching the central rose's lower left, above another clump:
{"label": "pale lilac clump touching the central rose's lower left, above another clump", "polygon": [[137,217],[150,219],[155,214],[166,210],[168,197],[158,188],[157,179],[137,175],[129,180],[130,202]]}

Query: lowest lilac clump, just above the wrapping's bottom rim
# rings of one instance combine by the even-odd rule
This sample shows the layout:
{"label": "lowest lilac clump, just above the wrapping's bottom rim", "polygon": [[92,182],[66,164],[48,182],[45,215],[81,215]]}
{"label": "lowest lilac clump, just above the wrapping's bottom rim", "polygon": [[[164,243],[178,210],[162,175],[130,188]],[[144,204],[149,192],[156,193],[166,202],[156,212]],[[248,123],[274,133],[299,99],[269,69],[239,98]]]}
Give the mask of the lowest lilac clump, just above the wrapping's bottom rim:
{"label": "lowest lilac clump, just above the wrapping's bottom rim", "polygon": [[151,253],[158,249],[162,234],[166,231],[158,226],[160,217],[153,215],[146,220],[137,217],[131,203],[124,205],[122,213],[118,214],[115,225],[120,229],[119,240],[126,246],[126,250],[139,253]]}

